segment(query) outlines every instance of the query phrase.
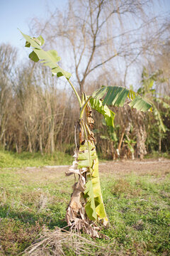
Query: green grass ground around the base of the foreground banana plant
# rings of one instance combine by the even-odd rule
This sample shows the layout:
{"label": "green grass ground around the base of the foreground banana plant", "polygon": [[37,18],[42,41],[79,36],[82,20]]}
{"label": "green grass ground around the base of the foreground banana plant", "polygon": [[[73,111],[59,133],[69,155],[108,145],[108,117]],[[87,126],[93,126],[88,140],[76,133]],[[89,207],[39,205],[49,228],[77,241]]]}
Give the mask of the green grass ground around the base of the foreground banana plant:
{"label": "green grass ground around the base of the foreground banana plant", "polygon": [[[73,183],[74,177],[61,170],[0,169],[0,255],[18,255],[44,228],[67,225],[64,215]],[[124,170],[121,177],[101,172],[110,226],[101,230],[103,238],[96,244],[109,245],[109,255],[169,255],[169,185],[170,170]],[[71,247],[66,254],[74,255]],[[94,247],[91,255],[105,253]]]}

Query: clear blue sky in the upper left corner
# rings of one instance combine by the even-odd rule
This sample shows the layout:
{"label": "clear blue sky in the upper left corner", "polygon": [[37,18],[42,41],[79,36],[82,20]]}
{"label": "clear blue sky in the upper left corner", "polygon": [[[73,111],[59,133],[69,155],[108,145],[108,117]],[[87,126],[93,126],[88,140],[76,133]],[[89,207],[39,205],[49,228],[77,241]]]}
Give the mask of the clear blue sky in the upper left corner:
{"label": "clear blue sky in the upper left corner", "polygon": [[47,9],[64,9],[67,0],[0,0],[0,43],[11,43],[19,50],[23,48],[23,33],[29,33],[28,23],[37,16],[45,19]]}

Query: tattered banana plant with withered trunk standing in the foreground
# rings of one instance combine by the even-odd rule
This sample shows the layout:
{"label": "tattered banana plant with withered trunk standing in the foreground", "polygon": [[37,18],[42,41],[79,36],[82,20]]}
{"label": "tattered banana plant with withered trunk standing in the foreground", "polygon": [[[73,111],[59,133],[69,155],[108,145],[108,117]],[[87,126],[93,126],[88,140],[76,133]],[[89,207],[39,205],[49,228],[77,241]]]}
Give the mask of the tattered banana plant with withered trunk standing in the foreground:
{"label": "tattered banana plant with withered trunk standing in the foreground", "polygon": [[31,47],[33,50],[29,58],[35,63],[40,61],[43,65],[48,66],[52,75],[64,76],[79,102],[79,122],[76,125],[79,130],[79,139],[75,138],[74,161],[66,173],[67,176],[76,175],[77,182],[74,184],[74,191],[67,208],[66,220],[70,227],[84,230],[91,236],[98,237],[97,224],[102,223],[106,226],[108,217],[103,204],[98,175],[98,157],[95,146],[96,139],[92,132],[94,119],[91,108],[103,114],[106,124],[113,127],[115,113],[108,106],[123,107],[125,100],[128,99],[130,107],[145,112],[150,110],[152,105],[134,91],[117,86],[102,86],[91,95],[85,93],[79,95],[70,81],[71,74],[57,64],[61,59],[57,51],[43,50],[41,47],[44,44],[42,36],[33,38],[24,33],[22,35],[26,39],[26,47]]}

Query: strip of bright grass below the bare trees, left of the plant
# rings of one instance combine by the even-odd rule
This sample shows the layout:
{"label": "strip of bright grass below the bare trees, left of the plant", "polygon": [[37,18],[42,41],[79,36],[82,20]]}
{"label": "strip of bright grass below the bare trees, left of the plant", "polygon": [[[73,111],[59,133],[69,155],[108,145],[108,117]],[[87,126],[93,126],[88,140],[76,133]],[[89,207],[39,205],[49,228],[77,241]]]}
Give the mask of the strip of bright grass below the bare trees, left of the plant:
{"label": "strip of bright grass below the bare trees, left of the plant", "polygon": [[27,166],[55,166],[72,164],[72,156],[64,152],[55,152],[55,154],[44,154],[40,152],[23,152],[17,154],[11,151],[0,151],[0,167],[27,167]]}

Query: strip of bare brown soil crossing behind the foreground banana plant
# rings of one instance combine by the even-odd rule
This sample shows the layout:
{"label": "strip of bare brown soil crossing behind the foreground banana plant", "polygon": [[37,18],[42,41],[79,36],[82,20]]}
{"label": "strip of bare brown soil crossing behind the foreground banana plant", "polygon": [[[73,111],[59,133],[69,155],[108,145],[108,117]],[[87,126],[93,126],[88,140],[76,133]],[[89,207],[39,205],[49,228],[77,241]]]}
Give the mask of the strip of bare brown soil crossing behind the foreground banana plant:
{"label": "strip of bare brown soil crossing behind the foreground banana plant", "polygon": [[[65,171],[69,166],[45,166],[45,167],[27,167],[24,171],[34,173],[36,177],[36,172],[41,173],[42,175],[47,175],[47,178],[50,176],[58,174],[58,176],[63,176]],[[137,175],[153,175],[161,176],[170,173],[170,160],[168,159],[145,159],[140,160],[119,160],[119,161],[108,161],[106,163],[99,164],[100,173],[105,174],[114,174],[115,176],[125,176],[130,173]],[[38,174],[39,176],[39,174]],[[40,176],[38,177],[40,178]]]}

